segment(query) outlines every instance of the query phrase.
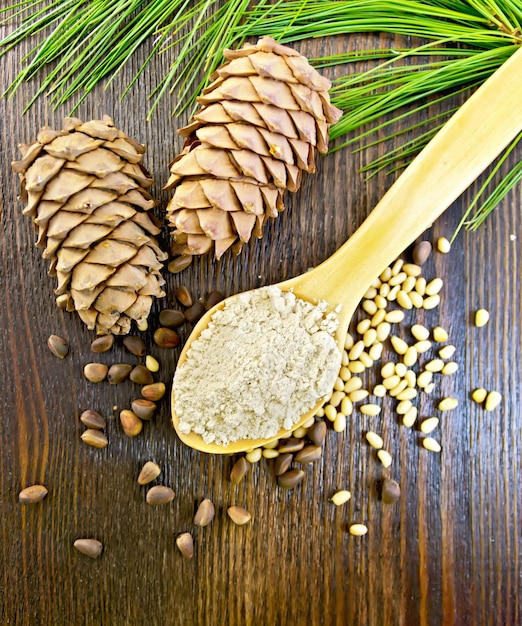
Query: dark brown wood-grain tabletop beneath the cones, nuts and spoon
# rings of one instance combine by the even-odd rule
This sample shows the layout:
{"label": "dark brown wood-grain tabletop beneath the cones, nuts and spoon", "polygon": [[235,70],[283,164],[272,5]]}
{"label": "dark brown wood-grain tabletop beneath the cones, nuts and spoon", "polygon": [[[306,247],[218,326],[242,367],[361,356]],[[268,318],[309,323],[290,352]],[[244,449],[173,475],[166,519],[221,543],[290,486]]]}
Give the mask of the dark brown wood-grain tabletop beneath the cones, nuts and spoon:
{"label": "dark brown wood-grain tabletop beneath the cones, nuts and spoon", "polygon": [[[321,45],[296,47],[313,56]],[[2,90],[24,53],[20,46],[2,60]],[[154,60],[129,96],[118,100],[139,62],[108,90],[99,87],[78,115],[87,120],[108,113],[147,145],[145,163],[156,179],[161,216],[168,198],[161,189],[167,164],[181,145],[175,129],[185,120],[170,116],[172,101],[166,98],[145,121],[147,96],[166,68],[165,57]],[[329,431],[323,458],[306,469],[297,489],[279,489],[266,461],[234,487],[228,478],[233,459],[183,446],[170,425],[167,401],[141,435],[130,439],[114,407],[128,407],[139,389],[132,383],[94,385],[84,379],[82,368],[93,360],[93,333],[78,316],[56,307],[53,280],[34,247],[32,224],[21,214],[10,168],[18,143],[31,141],[44,124],[58,127],[68,113],[65,107],[52,111],[40,99],[22,116],[33,90],[33,84],[26,85],[13,99],[0,100],[0,623],[522,623],[521,187],[478,232],[460,234],[449,255],[434,254],[425,266],[427,277],[444,280],[442,303],[436,311],[408,315],[408,323],[446,327],[460,369],[437,386],[434,397],[421,398],[420,411],[431,414],[433,403],[446,394],[458,397],[460,406],[442,415],[435,433],[442,444],[437,455],[422,449],[418,430],[399,427],[392,405],[385,403],[380,428],[393,452],[388,473],[401,484],[400,502],[386,507],[378,499],[384,472],[364,442],[375,418],[358,413],[346,432]],[[212,289],[230,295],[288,278],[326,258],[392,182],[385,175],[366,181],[359,173],[371,156],[370,151],[341,150],[320,159],[317,174],[287,197],[287,210],[261,241],[238,258],[226,256],[219,263],[205,258],[182,274],[166,276],[167,297],[154,306],[151,328],[159,311],[175,304],[174,289],[180,284],[197,297]],[[426,237],[451,236],[470,194]],[[479,307],[491,311],[482,329],[472,325]],[[184,327],[183,336],[189,330]],[[52,333],[70,342],[63,361],[47,349]],[[158,378],[168,384],[177,351],[159,349],[151,332],[143,336],[161,362]],[[132,362],[119,342],[100,360]],[[370,372],[369,381],[374,378]],[[496,411],[486,413],[471,401],[470,392],[478,386],[503,394]],[[106,449],[80,441],[79,414],[87,408],[108,417]],[[147,460],[161,466],[161,482],[175,490],[171,505],[146,504],[146,489],[136,477]],[[47,498],[21,506],[18,493],[34,483],[48,487]],[[336,508],[329,497],[339,488],[350,489],[352,500]],[[197,529],[192,518],[204,497],[214,501],[217,514],[210,526]],[[232,504],[247,508],[252,522],[234,526],[226,515]],[[355,521],[367,524],[367,536],[350,536],[348,526]],[[192,560],[175,546],[184,531],[194,535]],[[78,537],[102,541],[101,558],[77,553],[73,542]]]}

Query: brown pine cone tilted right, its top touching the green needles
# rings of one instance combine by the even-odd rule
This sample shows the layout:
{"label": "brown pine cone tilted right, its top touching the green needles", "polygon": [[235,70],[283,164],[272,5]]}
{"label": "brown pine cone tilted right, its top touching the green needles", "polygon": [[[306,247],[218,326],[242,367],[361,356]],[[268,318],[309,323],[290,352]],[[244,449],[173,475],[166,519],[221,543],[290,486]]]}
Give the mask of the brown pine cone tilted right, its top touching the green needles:
{"label": "brown pine cone tilted right, its top touching the green needles", "polygon": [[330,104],[330,81],[270,37],[223,54],[169,166],[167,216],[182,255],[220,258],[261,237],[284,209],[285,190],[315,171],[315,152],[327,151],[329,125],[342,113]]}

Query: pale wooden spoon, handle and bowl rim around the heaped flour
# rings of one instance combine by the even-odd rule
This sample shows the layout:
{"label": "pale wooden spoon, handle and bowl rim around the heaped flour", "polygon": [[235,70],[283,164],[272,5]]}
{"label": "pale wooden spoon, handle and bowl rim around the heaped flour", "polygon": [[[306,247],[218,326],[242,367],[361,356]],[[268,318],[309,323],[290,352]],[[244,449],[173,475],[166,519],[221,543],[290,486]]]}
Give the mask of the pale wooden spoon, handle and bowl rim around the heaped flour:
{"label": "pale wooden spoon, handle and bowl rim around the heaped flour", "polygon": [[[303,300],[325,300],[329,310],[342,304],[336,339],[343,348],[352,315],[369,285],[479,176],[522,130],[522,48],[515,52],[444,125],[408,166],[350,239],[316,268],[279,283]],[[231,296],[234,298],[237,296]],[[194,340],[217,309],[210,309],[189,336],[178,361],[182,367]],[[301,416],[294,429],[308,420],[317,406]],[[218,454],[243,452],[270,439],[241,439],[229,445],[207,444],[200,435],[178,429],[176,398],[172,420],[187,445]]]}

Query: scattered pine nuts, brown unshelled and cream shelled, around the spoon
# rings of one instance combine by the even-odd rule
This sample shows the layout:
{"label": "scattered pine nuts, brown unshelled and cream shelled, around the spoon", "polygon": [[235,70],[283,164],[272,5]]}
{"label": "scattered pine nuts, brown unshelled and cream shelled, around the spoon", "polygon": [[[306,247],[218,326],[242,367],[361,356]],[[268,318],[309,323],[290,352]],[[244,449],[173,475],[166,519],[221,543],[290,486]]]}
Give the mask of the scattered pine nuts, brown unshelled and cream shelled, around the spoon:
{"label": "scattered pine nuts, brown unshelled and cream shelled, around the spoon", "polygon": [[[445,238],[437,241],[436,249],[441,253],[450,250],[450,243]],[[429,258],[432,245],[428,241],[418,242],[412,252],[412,263],[398,259],[369,287],[362,300],[360,311],[366,317],[357,323],[345,339],[342,364],[331,394],[324,405],[305,424],[281,439],[276,439],[262,447],[248,450],[236,458],[230,481],[238,484],[248,474],[252,464],[267,459],[276,477],[277,484],[283,489],[297,487],[305,478],[305,469],[322,458],[328,430],[342,433],[346,429],[348,418],[359,413],[372,423],[364,432],[364,440],[372,450],[383,469],[380,485],[380,498],[386,505],[391,505],[400,498],[400,485],[389,474],[393,466],[393,454],[385,448],[386,424],[382,421],[382,402],[384,398],[393,399],[395,413],[400,424],[408,429],[416,428],[422,446],[431,452],[440,452],[441,445],[432,436],[439,426],[440,417],[428,415],[421,418],[418,407],[414,404],[421,393],[432,394],[439,376],[451,376],[458,370],[453,360],[455,346],[448,343],[447,331],[441,326],[431,330],[423,324],[414,323],[406,331],[404,339],[405,311],[435,309],[440,302],[443,286],[440,278],[427,280],[422,276],[422,265]],[[183,311],[164,309],[159,315],[160,327],[154,332],[154,342],[161,348],[171,349],[180,343],[176,329],[185,322],[195,323],[212,306],[223,299],[218,291],[211,292],[204,301],[194,300],[186,287],[178,287],[176,299]],[[485,309],[476,311],[474,323],[477,327],[485,326],[489,313]],[[145,330],[146,328],[140,328]],[[400,336],[403,335],[403,336]],[[146,353],[145,342],[137,336],[123,339],[127,350],[142,360],[138,365],[115,363],[110,367],[102,363],[89,363],[84,367],[84,376],[94,383],[107,380],[110,384],[119,384],[127,379],[141,385],[141,398],[131,402],[130,409],[120,411],[120,423],[123,432],[130,437],[138,435],[143,428],[143,420],[151,420],[156,410],[156,403],[164,396],[166,386],[154,380],[159,372],[158,361]],[[94,353],[106,352],[114,344],[113,335],[98,337],[91,344]],[[63,359],[69,350],[67,341],[51,335],[48,340],[51,352]],[[385,352],[386,350],[386,352]],[[381,363],[382,356],[391,352],[393,357]],[[378,378],[371,384],[365,380],[369,373],[378,372]],[[497,391],[484,388],[475,389],[471,394],[477,403],[483,403],[487,411],[492,411],[501,403],[502,397]],[[456,398],[446,397],[435,407],[443,413],[458,406]],[[434,410],[435,412],[435,410]],[[81,438],[85,443],[103,448],[108,440],[103,429],[105,418],[92,409],[83,411],[81,422],[86,426]],[[145,486],[160,476],[160,467],[148,461],[142,467],[137,478],[138,484]],[[43,485],[32,485],[19,494],[21,504],[35,504],[47,495]],[[151,506],[165,505],[174,499],[173,490],[165,485],[148,488],[146,501]],[[330,497],[335,506],[342,506],[351,499],[348,489],[341,489]],[[229,518],[237,525],[251,520],[251,514],[239,506],[227,509]],[[215,515],[212,501],[205,498],[194,516],[194,524],[204,527],[210,524]],[[361,537],[368,532],[368,527],[359,521],[351,523],[349,533]],[[194,541],[190,532],[183,532],[176,538],[180,553],[186,558],[194,555]],[[96,539],[78,539],[74,547],[92,558],[98,557],[103,550]]]}

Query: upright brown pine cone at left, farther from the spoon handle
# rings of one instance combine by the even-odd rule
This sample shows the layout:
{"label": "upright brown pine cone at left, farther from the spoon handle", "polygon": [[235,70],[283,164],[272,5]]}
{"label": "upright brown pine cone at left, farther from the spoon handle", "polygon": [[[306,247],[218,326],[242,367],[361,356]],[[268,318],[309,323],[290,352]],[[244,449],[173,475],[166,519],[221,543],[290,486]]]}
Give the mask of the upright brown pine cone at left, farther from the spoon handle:
{"label": "upright brown pine cone at left, farther from the spoon handle", "polygon": [[58,305],[78,311],[100,334],[128,333],[132,320],[146,320],[153,296],[165,295],[160,269],[167,255],[148,213],[155,203],[141,165],[145,147],[105,116],[66,118],[63,130],[44,128],[20,150],[12,166],[23,213],[33,218],[36,245],[57,278]]}

